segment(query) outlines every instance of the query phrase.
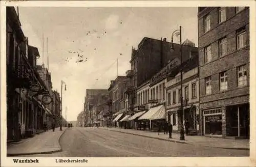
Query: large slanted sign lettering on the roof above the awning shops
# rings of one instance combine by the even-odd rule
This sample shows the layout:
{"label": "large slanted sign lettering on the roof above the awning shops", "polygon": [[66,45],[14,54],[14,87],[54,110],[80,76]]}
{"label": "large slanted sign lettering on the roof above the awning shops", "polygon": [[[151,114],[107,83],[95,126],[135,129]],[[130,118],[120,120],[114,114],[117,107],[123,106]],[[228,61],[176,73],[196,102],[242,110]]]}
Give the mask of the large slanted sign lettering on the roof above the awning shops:
{"label": "large slanted sign lettering on the roof above the awning shops", "polygon": [[169,64],[167,64],[159,73],[152,77],[151,82],[155,82],[163,77],[165,77],[169,72],[171,72],[175,67],[180,65],[179,58],[175,58]]}

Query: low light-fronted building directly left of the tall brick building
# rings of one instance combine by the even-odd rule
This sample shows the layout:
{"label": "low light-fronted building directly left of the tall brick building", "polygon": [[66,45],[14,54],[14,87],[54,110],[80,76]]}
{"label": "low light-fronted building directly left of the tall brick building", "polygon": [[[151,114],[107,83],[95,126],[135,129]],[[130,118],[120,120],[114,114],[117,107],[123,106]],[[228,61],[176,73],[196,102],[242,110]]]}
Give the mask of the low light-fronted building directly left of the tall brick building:
{"label": "low light-fronted building directly left of the tall brick building", "polygon": [[[183,125],[188,121],[189,134],[199,134],[199,72],[198,55],[187,61],[183,70],[182,97],[183,97]],[[166,110],[167,121],[173,125],[173,131],[180,130],[181,107],[181,76],[179,70],[167,78]]]}

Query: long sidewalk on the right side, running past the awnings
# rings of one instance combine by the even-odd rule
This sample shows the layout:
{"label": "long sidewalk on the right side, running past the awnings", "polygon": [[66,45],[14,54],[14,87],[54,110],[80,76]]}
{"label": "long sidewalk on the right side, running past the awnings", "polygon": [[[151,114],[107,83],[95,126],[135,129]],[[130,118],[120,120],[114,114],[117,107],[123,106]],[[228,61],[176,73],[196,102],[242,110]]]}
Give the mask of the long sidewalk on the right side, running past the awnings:
{"label": "long sidewalk on the right side, running past the awnings", "polygon": [[216,137],[205,137],[205,136],[186,136],[185,141],[180,141],[180,134],[172,133],[173,138],[168,138],[169,135],[161,132],[159,135],[157,132],[134,130],[134,129],[122,129],[113,127],[100,127],[101,129],[117,131],[122,133],[128,133],[133,135],[139,135],[149,138],[156,138],[158,140],[164,140],[168,142],[191,144],[197,146],[207,146],[216,147],[224,149],[236,149],[236,150],[249,150],[249,140],[232,140],[226,138],[216,138]]}

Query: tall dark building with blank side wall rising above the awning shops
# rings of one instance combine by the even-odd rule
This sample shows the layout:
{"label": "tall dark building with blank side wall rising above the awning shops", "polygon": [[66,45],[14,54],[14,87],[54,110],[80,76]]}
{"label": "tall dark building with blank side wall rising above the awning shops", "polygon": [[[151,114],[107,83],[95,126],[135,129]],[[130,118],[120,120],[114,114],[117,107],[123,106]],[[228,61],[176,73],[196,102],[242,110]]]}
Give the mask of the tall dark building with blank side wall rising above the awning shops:
{"label": "tall dark building with blank side wall rising above the awning shops", "polygon": [[[174,50],[170,50],[172,45],[175,48]],[[184,45],[182,48],[183,55],[185,55],[183,61],[189,59],[189,55],[198,52],[195,44]],[[138,49],[132,48],[131,70],[127,71],[126,76],[131,77],[129,93],[132,98],[131,106],[133,106],[133,110],[138,110],[136,104],[139,101],[136,93],[137,88],[152,79],[153,75],[177,57],[180,57],[180,45],[167,42],[166,38],[157,40],[145,37],[138,45]]]}

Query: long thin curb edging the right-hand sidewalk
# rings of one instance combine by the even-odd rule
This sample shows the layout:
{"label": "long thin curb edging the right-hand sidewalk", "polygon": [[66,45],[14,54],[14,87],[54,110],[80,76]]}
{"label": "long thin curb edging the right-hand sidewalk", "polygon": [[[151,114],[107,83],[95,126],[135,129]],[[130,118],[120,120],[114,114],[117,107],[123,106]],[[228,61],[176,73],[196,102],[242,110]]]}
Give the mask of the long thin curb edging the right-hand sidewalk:
{"label": "long thin curb edging the right-hand sidewalk", "polygon": [[[112,129],[105,129],[105,128],[100,128],[100,129],[110,130],[110,131],[115,131],[115,132],[120,132],[120,133],[126,133],[126,134],[132,134],[132,135],[137,135],[137,136],[142,136],[142,137],[147,137],[147,138],[154,138],[154,139],[161,140],[161,141],[195,145],[195,144],[190,143],[190,142],[185,143],[185,142],[180,142],[180,141],[172,141],[172,140],[168,140],[166,138],[158,138],[158,137],[152,137],[152,136],[147,136],[147,135],[135,134],[135,133],[130,133],[130,132],[122,132],[122,131],[112,130]],[[204,146],[204,145],[199,145],[199,146]],[[212,146],[204,146],[204,147],[212,147]],[[212,147],[212,148],[229,149],[229,150],[246,150],[246,151],[250,150],[248,148],[230,148],[230,147]]]}

